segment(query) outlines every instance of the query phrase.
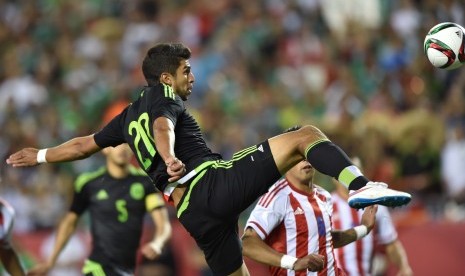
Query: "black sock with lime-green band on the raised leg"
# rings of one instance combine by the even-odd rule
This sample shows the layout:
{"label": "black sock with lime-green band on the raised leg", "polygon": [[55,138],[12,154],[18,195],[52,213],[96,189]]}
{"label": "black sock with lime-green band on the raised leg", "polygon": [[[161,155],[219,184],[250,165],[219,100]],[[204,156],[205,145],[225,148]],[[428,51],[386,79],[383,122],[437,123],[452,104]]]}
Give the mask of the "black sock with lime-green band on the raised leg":
{"label": "black sock with lime-green band on the raised leg", "polygon": [[358,190],[369,181],[347,154],[329,140],[314,142],[307,147],[305,156],[317,171],[336,178],[349,190]]}

